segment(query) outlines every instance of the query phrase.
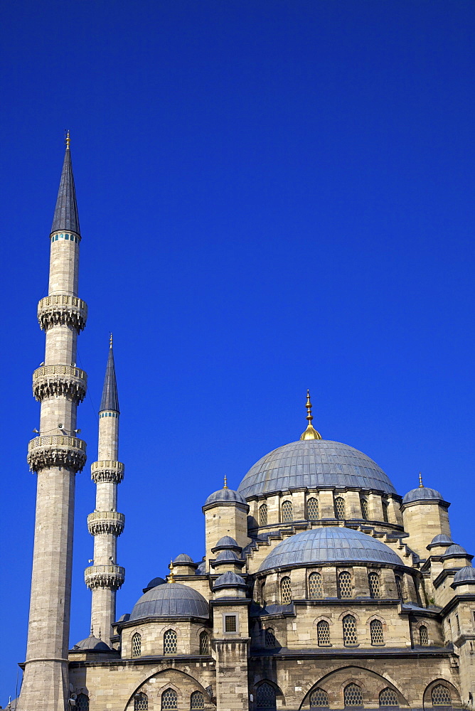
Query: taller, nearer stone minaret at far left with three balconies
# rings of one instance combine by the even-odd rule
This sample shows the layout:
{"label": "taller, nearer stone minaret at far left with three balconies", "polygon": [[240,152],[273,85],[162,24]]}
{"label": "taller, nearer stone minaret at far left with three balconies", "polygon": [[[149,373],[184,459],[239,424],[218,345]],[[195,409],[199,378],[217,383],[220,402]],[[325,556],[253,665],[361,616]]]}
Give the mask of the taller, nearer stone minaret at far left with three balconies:
{"label": "taller, nearer stone minaret at far left with three balconies", "polygon": [[78,298],[81,237],[69,142],[68,133],[50,234],[48,296],[38,304],[46,353],[33,373],[33,395],[41,402],[40,430],[28,444],[28,464],[38,476],[21,711],[64,711],[68,703],[75,474],[86,461],[85,442],[76,437],[76,409],[87,380],[76,367],[76,342],[87,306]]}

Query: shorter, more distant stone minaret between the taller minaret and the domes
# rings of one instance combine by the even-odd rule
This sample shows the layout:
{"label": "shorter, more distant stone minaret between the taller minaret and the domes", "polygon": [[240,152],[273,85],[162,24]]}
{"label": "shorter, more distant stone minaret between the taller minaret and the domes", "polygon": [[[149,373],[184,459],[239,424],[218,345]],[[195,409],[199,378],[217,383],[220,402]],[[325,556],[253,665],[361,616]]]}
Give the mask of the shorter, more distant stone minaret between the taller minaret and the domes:
{"label": "shorter, more distant stone minaret between the taller minaret and the domes", "polygon": [[117,461],[119,415],[111,334],[99,411],[98,461],[91,465],[96,508],[87,516],[89,533],[94,536],[94,565],[85,570],[85,583],[92,590],[91,626],[96,636],[101,631],[107,644],[114,634],[115,596],[124,582],[124,568],[116,563],[117,536],[124,530],[124,514],[117,513],[117,484],[124,477],[124,465]]}

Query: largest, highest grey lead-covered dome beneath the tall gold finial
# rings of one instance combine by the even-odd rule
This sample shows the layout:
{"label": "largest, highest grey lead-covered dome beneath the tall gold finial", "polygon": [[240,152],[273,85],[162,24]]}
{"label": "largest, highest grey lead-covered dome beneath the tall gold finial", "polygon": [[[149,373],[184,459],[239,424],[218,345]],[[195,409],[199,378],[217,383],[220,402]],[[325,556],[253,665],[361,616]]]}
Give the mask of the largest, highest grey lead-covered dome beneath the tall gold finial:
{"label": "largest, highest grey lead-covered dome beneath the tall gold finial", "polygon": [[250,498],[328,486],[396,493],[388,475],[373,459],[348,444],[328,439],[307,439],[274,449],[251,467],[237,491]]}

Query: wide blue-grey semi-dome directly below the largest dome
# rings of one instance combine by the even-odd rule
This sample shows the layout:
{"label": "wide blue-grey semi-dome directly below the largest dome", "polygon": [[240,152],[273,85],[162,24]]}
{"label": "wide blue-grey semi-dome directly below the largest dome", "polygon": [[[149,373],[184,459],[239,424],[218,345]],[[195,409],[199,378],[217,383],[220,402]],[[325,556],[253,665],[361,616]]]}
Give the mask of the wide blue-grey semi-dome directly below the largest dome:
{"label": "wide blue-grey semi-dome directly below the largest dome", "polygon": [[261,563],[260,572],[308,563],[351,562],[404,565],[388,545],[351,528],[314,528],[280,542]]}

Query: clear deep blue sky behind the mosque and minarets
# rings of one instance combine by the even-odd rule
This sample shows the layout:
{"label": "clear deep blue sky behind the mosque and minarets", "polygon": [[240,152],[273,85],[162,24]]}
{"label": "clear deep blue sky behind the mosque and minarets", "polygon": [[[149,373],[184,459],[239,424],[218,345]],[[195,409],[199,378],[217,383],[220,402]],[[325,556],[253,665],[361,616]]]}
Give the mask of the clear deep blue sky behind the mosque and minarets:
{"label": "clear deep blue sky behind the mosque and minarets", "polygon": [[[0,7],[2,705],[23,661],[43,360],[36,303],[72,135],[90,308],[79,427],[114,332],[126,478],[117,612],[203,555],[206,496],[305,427],[442,491],[473,545],[473,0]],[[94,486],[77,479],[71,643]]]}

